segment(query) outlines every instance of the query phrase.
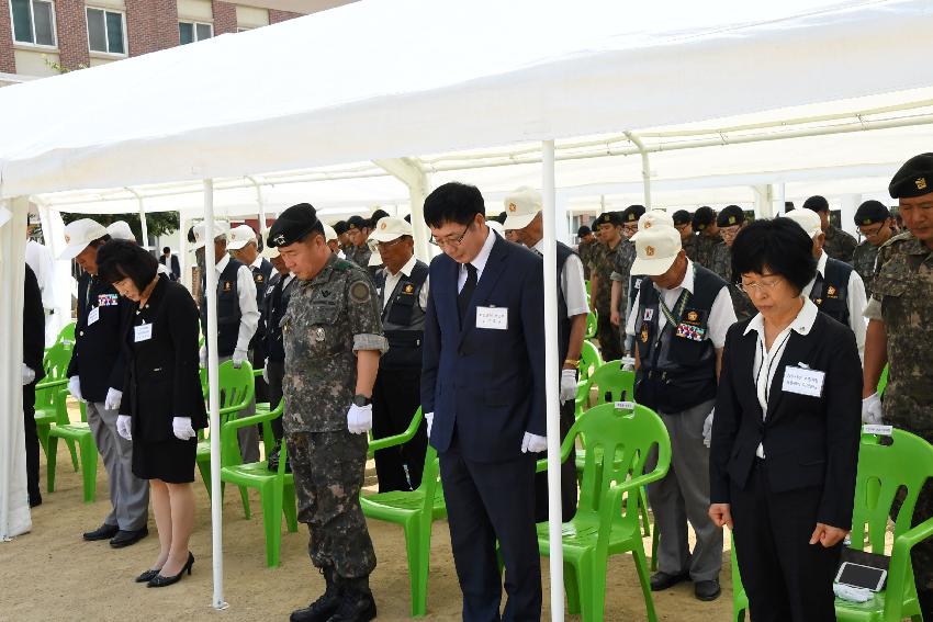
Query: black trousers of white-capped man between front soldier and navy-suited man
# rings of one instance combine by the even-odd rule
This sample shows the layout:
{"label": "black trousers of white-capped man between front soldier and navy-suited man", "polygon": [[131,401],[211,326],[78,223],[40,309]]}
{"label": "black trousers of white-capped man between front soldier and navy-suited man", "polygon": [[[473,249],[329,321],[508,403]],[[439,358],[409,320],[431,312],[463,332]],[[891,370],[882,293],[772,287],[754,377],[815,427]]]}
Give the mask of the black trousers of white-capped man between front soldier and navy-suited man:
{"label": "black trousers of white-capped man between front soldier and navy-suited man", "polygon": [[[420,386],[419,369],[379,370],[372,389],[373,439],[401,434],[408,428],[421,404]],[[427,423],[423,420],[411,441],[375,452],[379,491],[413,490],[420,486],[427,449]]]}

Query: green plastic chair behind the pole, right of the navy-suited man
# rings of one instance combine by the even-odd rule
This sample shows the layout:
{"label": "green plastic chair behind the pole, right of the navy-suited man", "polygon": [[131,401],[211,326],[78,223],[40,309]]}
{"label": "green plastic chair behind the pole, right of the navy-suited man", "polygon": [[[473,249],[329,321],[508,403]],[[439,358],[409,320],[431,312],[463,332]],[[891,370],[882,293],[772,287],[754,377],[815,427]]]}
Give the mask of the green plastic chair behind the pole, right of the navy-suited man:
{"label": "green plastic chair behind the pole, right of the navy-suited man", "polygon": [[[639,491],[664,477],[671,466],[671,439],[664,422],[650,408],[614,404],[591,408],[577,419],[561,446],[564,460],[580,436],[589,446],[580,486],[576,514],[563,523],[564,589],[571,613],[585,622],[602,622],[606,600],[606,564],[609,555],[632,554],[650,622],[656,622],[648,559],[639,525]],[[657,464],[644,472],[653,448]],[[547,470],[538,461],[538,471]],[[538,523],[538,549],[550,554],[548,523]],[[611,619],[611,617],[608,617]]]}

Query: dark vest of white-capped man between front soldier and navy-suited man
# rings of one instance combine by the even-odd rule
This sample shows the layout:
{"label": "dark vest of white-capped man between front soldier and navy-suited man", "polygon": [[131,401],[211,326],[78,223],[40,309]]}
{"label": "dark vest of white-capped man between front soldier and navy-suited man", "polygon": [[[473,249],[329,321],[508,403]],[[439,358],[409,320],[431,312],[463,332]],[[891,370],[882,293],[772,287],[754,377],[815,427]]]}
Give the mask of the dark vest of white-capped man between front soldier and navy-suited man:
{"label": "dark vest of white-capped man between front soldier and navy-suited man", "polygon": [[425,312],[418,305],[421,289],[428,279],[428,267],[416,261],[408,276],[395,284],[392,292],[385,292],[385,271],[375,275],[375,289],[389,298],[382,310],[382,327],[389,339],[389,352],[379,362],[384,369],[420,369],[421,341],[425,336]]}

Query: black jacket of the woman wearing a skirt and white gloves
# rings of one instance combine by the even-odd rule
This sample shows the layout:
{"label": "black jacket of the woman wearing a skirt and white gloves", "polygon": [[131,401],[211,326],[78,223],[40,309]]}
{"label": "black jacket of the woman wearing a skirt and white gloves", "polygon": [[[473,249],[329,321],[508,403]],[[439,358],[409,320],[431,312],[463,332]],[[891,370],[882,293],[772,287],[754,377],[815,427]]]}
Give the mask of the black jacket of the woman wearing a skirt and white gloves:
{"label": "black jacket of the woman wearing a skirt and white gloves", "polygon": [[[124,326],[126,358],[122,415],[133,417],[133,439],[147,442],[172,437],[173,417],[191,417],[195,430],[207,427],[199,376],[201,318],[194,298],[179,283],[159,276],[144,309],[153,337],[135,341],[136,313]],[[135,306],[135,305],[134,305]]]}

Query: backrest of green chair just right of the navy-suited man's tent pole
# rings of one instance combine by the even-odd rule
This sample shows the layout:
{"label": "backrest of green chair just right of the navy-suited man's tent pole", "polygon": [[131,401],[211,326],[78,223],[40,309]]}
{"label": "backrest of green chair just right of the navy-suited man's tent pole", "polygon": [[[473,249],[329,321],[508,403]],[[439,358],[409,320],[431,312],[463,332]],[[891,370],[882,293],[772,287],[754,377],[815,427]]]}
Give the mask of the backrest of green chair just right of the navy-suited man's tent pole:
{"label": "backrest of green chair just right of the navy-suited man's tent pole", "polygon": [[[586,445],[577,514],[598,513],[600,500],[614,483],[621,484],[643,475],[652,450],[657,452],[655,470],[667,471],[671,464],[667,428],[650,408],[638,404],[632,404],[632,407],[617,409],[615,404],[595,406],[584,412],[567,432],[570,439],[578,434]],[[625,511],[614,517],[614,524],[637,530],[639,495],[628,495],[625,502]]]}

